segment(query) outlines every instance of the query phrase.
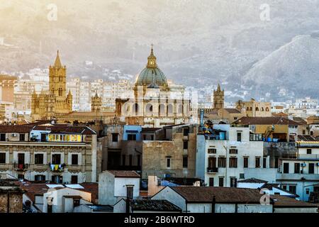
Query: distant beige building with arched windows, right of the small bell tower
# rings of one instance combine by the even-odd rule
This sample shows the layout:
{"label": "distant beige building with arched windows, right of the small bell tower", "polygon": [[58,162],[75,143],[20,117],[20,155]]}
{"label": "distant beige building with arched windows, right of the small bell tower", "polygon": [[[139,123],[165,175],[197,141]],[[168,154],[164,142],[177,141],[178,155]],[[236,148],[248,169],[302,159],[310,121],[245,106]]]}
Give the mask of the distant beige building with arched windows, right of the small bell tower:
{"label": "distant beige building with arched windows, right of the small bell tower", "polygon": [[237,101],[236,109],[242,111],[245,109],[246,116],[272,116],[272,104],[270,102],[255,101]]}

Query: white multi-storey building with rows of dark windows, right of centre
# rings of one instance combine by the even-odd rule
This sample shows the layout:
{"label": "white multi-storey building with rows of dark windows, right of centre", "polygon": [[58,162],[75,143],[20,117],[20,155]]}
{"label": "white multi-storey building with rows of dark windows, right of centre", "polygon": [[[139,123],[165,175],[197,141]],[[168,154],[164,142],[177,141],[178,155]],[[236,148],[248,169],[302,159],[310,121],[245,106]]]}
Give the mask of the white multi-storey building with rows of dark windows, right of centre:
{"label": "white multi-storey building with rows of dark windows, right of centre", "polygon": [[262,137],[250,128],[214,125],[197,135],[196,177],[211,187],[237,187],[252,169],[269,168]]}

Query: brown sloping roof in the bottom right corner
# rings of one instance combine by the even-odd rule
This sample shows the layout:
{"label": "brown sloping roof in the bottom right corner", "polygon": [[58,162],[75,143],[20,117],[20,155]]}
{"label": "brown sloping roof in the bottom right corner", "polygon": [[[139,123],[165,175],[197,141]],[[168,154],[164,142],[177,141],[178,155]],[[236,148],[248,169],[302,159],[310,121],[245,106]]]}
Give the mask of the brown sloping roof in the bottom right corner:
{"label": "brown sloping roof in the bottom right corner", "polygon": [[300,201],[287,196],[279,196],[277,194],[270,195],[274,201],[274,208],[281,207],[318,207],[318,204],[310,204],[306,201]]}

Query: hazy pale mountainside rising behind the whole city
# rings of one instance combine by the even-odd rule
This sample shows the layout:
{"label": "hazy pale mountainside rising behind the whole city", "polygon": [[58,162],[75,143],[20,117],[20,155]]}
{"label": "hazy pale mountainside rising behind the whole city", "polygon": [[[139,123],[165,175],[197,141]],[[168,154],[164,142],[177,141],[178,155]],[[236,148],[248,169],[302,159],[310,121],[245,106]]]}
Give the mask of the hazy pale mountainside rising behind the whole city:
{"label": "hazy pale mountainside rising behind the whole city", "polygon": [[69,75],[135,75],[154,43],[159,67],[186,86],[220,82],[234,99],[318,96],[306,78],[318,81],[319,0],[269,0],[270,21],[259,18],[264,0],[56,0],[48,21],[51,3],[1,1],[0,72],[48,67],[59,49]]}

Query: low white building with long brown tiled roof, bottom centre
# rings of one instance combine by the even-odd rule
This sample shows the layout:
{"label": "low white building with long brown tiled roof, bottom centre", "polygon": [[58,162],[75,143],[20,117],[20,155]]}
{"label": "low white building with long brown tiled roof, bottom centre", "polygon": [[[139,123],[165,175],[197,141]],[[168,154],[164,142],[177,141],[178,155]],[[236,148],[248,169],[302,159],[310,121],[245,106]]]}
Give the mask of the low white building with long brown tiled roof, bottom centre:
{"label": "low white building with long brown tiled roof, bottom centre", "polygon": [[166,199],[187,213],[272,213],[273,209],[271,199],[257,189],[165,187],[152,199]]}

